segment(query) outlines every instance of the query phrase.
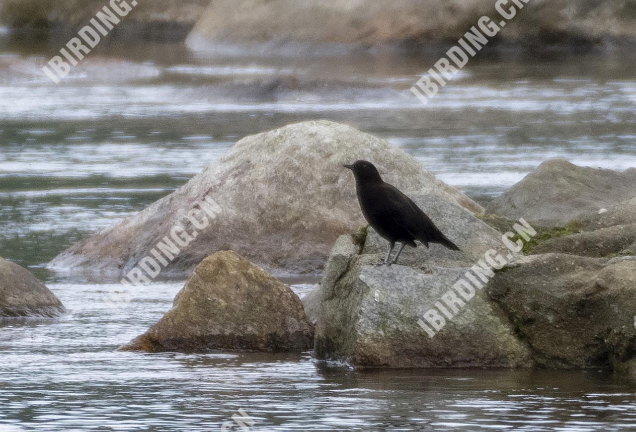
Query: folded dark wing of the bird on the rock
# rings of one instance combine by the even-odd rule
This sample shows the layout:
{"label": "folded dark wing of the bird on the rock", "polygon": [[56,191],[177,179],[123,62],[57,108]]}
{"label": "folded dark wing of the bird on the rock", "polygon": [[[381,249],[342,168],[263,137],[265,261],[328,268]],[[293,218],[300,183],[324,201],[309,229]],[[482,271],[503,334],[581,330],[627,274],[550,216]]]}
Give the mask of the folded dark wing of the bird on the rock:
{"label": "folded dark wing of the bird on the rock", "polygon": [[403,227],[413,238],[428,246],[428,240],[442,235],[431,218],[404,195],[397,187],[386,183],[385,192],[389,201],[389,217],[394,224]]}

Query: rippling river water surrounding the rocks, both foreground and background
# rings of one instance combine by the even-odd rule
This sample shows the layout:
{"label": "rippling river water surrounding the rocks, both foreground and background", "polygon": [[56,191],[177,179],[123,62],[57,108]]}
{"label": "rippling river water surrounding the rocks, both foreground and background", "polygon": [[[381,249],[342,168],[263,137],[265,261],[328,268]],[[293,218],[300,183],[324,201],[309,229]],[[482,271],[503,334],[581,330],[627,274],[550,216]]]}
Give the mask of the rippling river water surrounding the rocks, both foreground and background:
{"label": "rippling river water surrounding the rocks, both foreground and background", "polygon": [[[0,256],[69,309],[0,327],[0,431],[221,430],[239,409],[255,431],[636,430],[636,383],[602,370],[361,371],[309,353],[121,353],[183,281],[154,283],[113,311],[102,298],[116,285],[44,268],[239,138],[305,119],[385,137],[482,203],[549,158],[636,166],[632,53],[484,55],[422,106],[408,88],[434,57],[111,44],[56,86],[40,67],[57,49],[0,32]],[[317,281],[301,282],[298,294]]]}

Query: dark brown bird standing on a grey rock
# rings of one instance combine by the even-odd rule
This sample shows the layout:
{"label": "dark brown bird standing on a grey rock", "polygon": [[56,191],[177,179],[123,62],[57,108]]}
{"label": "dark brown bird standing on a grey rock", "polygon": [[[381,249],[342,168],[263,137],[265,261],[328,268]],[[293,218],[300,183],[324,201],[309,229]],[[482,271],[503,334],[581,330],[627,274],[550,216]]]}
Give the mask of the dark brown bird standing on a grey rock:
{"label": "dark brown bird standing on a grey rock", "polygon": [[[371,162],[356,161],[353,165],[343,166],[352,170],[356,177],[356,192],[364,219],[380,236],[389,240],[389,252],[383,264],[396,264],[404,245],[417,248],[415,240],[421,241],[426,247],[429,247],[429,243],[439,243],[451,250],[459,250],[413,200],[382,180]],[[402,245],[393,262],[390,262],[396,242]]]}

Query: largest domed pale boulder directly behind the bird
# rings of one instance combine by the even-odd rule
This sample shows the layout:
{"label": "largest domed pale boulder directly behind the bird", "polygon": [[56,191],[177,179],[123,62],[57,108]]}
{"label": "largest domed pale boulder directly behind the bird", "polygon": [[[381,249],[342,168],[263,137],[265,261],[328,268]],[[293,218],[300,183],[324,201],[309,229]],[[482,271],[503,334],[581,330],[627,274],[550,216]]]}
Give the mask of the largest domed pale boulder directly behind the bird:
{"label": "largest domed pale boulder directly behind the bird", "polygon": [[275,273],[319,273],[336,238],[364,224],[355,182],[343,163],[368,159],[405,192],[427,192],[483,210],[389,142],[349,126],[308,121],[240,140],[187,184],[141,213],[102,229],[50,264],[53,269],[127,273],[204,196],[219,205],[210,225],[181,247],[167,270],[188,273],[232,249]]}

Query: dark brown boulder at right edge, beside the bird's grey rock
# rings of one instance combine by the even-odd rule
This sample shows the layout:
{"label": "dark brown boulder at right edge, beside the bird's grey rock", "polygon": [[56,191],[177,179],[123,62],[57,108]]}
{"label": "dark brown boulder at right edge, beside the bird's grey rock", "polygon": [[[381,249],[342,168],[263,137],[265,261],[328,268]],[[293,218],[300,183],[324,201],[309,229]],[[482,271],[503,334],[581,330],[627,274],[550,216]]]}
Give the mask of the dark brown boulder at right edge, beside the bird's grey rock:
{"label": "dark brown boulder at right edge, beside the bird's grey rock", "polygon": [[635,288],[635,260],[549,253],[511,264],[486,290],[537,365],[621,370],[636,354]]}

